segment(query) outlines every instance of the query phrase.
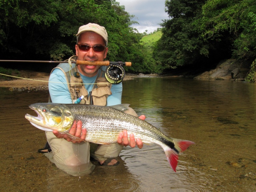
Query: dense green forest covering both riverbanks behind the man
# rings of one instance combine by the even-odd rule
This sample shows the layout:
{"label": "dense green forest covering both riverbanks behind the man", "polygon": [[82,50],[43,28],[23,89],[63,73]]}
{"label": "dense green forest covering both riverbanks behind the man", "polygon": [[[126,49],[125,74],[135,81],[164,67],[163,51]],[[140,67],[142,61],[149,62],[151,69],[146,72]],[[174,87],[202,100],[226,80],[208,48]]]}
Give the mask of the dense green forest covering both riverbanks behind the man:
{"label": "dense green forest covering both riverbanks behind the man", "polygon": [[[166,0],[157,42],[131,27],[133,15],[116,0],[0,0],[0,59],[63,60],[75,53],[79,26],[98,23],[109,35],[111,61],[129,72],[207,69],[230,57],[256,57],[255,0]],[[155,35],[151,33],[151,35]],[[150,39],[150,35],[148,35]],[[250,77],[255,77],[255,63]]]}

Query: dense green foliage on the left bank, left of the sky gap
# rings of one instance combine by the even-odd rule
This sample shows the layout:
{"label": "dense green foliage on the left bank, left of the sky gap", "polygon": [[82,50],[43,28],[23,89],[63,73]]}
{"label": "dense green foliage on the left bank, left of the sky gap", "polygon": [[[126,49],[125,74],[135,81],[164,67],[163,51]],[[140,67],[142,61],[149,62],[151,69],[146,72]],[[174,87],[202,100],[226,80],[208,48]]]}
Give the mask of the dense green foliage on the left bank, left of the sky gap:
{"label": "dense green foliage on the left bank, left of the sky gap", "polygon": [[108,31],[108,60],[131,61],[128,70],[147,72],[132,18],[115,0],[1,0],[1,59],[67,59],[75,54],[78,28],[97,23]]}

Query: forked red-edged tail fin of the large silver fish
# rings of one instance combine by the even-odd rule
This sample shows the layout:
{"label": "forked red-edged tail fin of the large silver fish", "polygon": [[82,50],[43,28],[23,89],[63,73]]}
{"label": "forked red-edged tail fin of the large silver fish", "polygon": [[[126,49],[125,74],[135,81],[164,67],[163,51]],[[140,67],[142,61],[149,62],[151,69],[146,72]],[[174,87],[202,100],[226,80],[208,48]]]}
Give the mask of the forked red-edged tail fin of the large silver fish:
{"label": "forked red-edged tail fin of the large silver fish", "polygon": [[164,147],[164,152],[167,158],[167,161],[169,162],[170,166],[176,172],[176,167],[178,164],[178,152],[183,152],[185,151],[190,145],[194,144],[192,141],[187,141],[187,140],[180,140],[180,139],[174,139],[174,149],[171,149],[169,147]]}

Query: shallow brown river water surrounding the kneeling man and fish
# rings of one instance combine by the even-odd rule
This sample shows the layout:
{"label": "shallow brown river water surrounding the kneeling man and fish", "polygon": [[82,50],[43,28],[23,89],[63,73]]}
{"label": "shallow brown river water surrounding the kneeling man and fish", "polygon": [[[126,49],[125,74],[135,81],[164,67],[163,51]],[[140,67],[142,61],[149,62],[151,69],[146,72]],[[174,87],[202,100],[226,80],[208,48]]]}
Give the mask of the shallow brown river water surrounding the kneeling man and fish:
{"label": "shallow brown river water surrounding the kneeling man and fish", "polygon": [[[168,136],[196,145],[179,154],[177,172],[157,145],[126,147],[120,165],[73,177],[37,153],[43,131],[25,118],[48,92],[0,90],[1,189],[5,191],[256,191],[256,85],[234,81],[136,78],[123,103]],[[1,177],[1,176],[0,176]]]}

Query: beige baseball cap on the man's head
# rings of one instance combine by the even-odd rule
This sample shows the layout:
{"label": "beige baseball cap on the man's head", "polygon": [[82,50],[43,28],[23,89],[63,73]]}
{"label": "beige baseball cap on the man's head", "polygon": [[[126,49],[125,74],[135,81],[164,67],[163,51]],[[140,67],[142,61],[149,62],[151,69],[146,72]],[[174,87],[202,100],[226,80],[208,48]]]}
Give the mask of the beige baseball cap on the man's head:
{"label": "beige baseball cap on the man's head", "polygon": [[102,38],[106,41],[106,46],[108,46],[108,33],[105,29],[105,27],[102,27],[95,23],[88,23],[87,25],[83,25],[79,27],[77,37],[86,31],[93,31],[97,33],[98,35],[102,36]]}

